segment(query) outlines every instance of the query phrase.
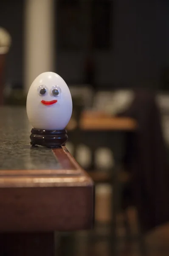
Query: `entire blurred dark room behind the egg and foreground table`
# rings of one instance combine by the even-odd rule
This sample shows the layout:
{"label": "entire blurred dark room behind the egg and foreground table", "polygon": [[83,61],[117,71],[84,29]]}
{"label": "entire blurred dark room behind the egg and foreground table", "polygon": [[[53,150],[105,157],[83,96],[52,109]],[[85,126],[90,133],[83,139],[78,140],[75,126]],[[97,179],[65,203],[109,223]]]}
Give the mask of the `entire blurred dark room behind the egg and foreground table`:
{"label": "entire blurred dark room behind the egg and foreground table", "polygon": [[67,148],[96,184],[95,227],[58,255],[169,255],[169,1],[0,3],[0,104],[53,71],[73,98]]}

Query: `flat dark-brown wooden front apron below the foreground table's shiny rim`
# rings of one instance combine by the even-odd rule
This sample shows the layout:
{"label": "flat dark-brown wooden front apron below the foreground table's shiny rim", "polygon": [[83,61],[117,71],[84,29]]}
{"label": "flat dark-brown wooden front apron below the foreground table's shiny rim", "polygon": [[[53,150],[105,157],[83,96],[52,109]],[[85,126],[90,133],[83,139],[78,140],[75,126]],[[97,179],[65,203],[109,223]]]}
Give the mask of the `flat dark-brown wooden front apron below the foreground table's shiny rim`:
{"label": "flat dark-brown wooden front apron below the foreground table's shiny rim", "polygon": [[0,230],[51,232],[91,229],[93,200],[93,186],[0,188]]}

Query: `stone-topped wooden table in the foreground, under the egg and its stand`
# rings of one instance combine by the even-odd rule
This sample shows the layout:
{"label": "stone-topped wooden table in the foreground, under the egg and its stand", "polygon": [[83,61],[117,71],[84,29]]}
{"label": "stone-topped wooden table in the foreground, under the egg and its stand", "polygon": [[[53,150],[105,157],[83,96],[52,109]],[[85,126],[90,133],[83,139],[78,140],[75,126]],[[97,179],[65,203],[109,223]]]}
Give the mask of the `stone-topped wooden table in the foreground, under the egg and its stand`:
{"label": "stone-topped wooden table in the foreground, under the egg and its stand", "polygon": [[0,108],[0,255],[54,255],[54,231],[93,227],[93,181],[65,147],[30,146],[25,108]]}

